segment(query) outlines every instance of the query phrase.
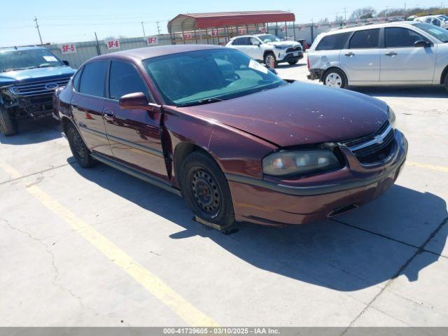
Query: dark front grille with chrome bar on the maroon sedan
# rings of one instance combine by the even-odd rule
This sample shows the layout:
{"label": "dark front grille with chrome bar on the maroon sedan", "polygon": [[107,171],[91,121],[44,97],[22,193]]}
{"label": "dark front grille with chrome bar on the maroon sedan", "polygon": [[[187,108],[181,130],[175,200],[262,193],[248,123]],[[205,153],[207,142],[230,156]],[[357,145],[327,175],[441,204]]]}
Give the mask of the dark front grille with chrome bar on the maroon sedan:
{"label": "dark front grille with chrome bar on the maroon sedan", "polygon": [[390,155],[394,134],[393,128],[386,122],[373,134],[341,141],[341,143],[349,147],[359,162],[369,164],[384,160]]}

